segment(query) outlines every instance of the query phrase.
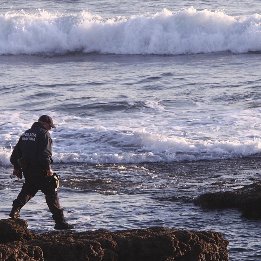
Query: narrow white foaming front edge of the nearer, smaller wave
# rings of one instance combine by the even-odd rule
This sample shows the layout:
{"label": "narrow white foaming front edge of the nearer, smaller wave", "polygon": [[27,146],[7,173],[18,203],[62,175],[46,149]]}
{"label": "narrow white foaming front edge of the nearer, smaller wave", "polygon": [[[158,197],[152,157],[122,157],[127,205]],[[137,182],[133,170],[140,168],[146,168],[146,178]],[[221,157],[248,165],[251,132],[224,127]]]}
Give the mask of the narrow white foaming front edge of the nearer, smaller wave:
{"label": "narrow white foaming front edge of the nearer, smaller wave", "polygon": [[[189,141],[182,139],[169,139],[160,142],[147,140],[147,145],[141,147],[142,138],[138,137],[132,141],[132,148],[128,144],[128,151],[124,151],[124,146],[118,149],[110,146],[108,150],[114,150],[115,153],[105,152],[105,147],[98,148],[100,152],[93,153],[95,146],[89,151],[83,152],[59,152],[59,147],[55,148],[53,153],[54,162],[63,163],[88,163],[88,164],[140,164],[140,163],[156,163],[156,162],[181,162],[181,161],[199,161],[199,160],[227,160],[240,159],[245,157],[260,157],[261,139],[239,141]],[[135,143],[136,142],[136,143]],[[137,148],[137,143],[139,144]],[[95,143],[96,144],[96,143]],[[64,144],[63,144],[64,145]],[[90,144],[89,144],[90,145]],[[89,146],[88,145],[88,146]],[[108,147],[106,146],[106,148]],[[136,146],[136,148],[135,148]],[[62,149],[64,151],[64,149]],[[116,152],[118,151],[118,153]],[[1,165],[11,165],[10,155],[11,148],[1,147],[0,163]]]}

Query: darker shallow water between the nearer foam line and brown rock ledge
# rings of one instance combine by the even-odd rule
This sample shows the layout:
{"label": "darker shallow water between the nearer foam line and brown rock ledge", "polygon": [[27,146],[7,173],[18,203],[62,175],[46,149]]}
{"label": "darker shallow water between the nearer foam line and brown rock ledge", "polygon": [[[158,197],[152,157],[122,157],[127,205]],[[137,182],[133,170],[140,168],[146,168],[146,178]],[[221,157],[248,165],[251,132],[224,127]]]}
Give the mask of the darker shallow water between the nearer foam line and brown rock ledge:
{"label": "darker shallow water between the nearer foam line and brown rock ledge", "polygon": [[[229,240],[230,260],[260,260],[260,221],[248,220],[238,209],[208,210],[193,204],[207,192],[227,191],[260,180],[259,159],[176,162],[142,165],[55,164],[60,175],[59,198],[76,231],[166,226],[213,230]],[[1,167],[0,218],[8,218],[21,181]],[[32,232],[53,229],[44,195],[21,210]]]}

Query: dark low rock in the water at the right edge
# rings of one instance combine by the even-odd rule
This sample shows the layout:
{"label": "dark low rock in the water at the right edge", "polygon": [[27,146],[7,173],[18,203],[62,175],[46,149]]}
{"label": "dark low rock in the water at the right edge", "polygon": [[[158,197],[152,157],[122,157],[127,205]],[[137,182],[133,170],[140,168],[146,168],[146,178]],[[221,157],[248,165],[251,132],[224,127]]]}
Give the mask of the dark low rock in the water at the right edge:
{"label": "dark low rock in the water at the right edge", "polygon": [[206,208],[239,208],[246,218],[261,219],[261,183],[246,185],[234,191],[206,193],[195,200]]}

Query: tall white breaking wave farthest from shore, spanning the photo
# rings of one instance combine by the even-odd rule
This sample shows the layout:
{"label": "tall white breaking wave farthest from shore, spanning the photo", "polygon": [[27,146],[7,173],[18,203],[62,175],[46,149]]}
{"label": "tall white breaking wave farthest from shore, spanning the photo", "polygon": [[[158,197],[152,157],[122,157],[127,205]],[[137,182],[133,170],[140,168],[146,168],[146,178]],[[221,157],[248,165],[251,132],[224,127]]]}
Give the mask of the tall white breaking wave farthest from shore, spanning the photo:
{"label": "tall white breaking wave farthest from shore, spanning the photo", "polygon": [[0,55],[261,52],[260,28],[260,14],[233,17],[193,7],[110,19],[86,11],[78,15],[8,12],[0,15]]}

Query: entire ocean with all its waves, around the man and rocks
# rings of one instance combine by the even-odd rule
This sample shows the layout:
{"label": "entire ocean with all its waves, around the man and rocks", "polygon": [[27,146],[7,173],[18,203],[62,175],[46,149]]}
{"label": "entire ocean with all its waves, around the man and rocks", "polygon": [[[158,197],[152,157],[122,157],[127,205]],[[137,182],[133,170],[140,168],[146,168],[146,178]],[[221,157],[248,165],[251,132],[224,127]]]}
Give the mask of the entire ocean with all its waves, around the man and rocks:
{"label": "entire ocean with all its waves, around the man and rocks", "polygon": [[[260,1],[0,3],[0,218],[23,184],[12,149],[48,114],[76,231],[213,230],[261,260],[259,220],[193,203],[260,180]],[[41,192],[21,218],[54,226]]]}

